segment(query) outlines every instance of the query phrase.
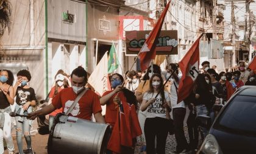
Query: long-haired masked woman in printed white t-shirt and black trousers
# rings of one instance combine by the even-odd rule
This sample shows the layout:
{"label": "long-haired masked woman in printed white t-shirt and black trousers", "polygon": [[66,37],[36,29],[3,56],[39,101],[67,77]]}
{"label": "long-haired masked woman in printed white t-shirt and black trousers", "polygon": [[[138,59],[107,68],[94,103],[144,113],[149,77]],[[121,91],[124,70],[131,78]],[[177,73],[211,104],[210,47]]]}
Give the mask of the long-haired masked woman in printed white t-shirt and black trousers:
{"label": "long-haired masked woman in printed white t-shirt and black trousers", "polygon": [[[168,135],[168,117],[171,108],[169,94],[164,91],[163,79],[160,74],[153,74],[149,81],[149,91],[143,96],[141,111],[147,110],[144,133],[146,137],[147,154],[165,153]],[[160,91],[161,89],[161,91]],[[157,93],[159,93],[157,96]],[[155,98],[157,96],[157,98]],[[155,137],[157,138],[157,152],[155,152]]]}

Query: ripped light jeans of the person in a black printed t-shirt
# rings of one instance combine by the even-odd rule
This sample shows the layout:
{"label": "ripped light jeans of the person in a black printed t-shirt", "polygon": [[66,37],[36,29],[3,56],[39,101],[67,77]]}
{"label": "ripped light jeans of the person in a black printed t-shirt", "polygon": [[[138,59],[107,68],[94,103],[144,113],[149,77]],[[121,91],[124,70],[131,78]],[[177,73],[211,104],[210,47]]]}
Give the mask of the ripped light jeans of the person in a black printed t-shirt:
{"label": "ripped light jeans of the person in a black printed t-shirt", "polygon": [[24,134],[24,137],[27,142],[27,149],[31,148],[31,137],[30,137],[30,124],[29,124],[29,119],[26,117],[23,118],[23,122],[19,122],[19,117],[15,117],[16,121],[16,139],[17,139],[17,144],[18,144],[18,149],[20,154],[23,153],[23,141],[22,141],[22,136]]}

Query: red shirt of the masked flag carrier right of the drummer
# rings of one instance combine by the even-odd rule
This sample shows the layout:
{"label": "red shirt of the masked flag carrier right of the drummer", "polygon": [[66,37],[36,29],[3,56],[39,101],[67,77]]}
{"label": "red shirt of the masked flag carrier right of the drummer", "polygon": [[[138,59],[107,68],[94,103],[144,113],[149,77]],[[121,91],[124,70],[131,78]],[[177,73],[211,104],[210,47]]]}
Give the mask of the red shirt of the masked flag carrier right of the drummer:
{"label": "red shirt of the masked flag carrier right of the drummer", "polygon": [[[106,96],[109,93],[112,93],[112,91],[113,90],[106,91],[104,94],[102,94],[102,97]],[[112,97],[110,97],[110,99],[108,99],[108,101],[106,103],[105,122],[109,123],[112,126],[112,128],[115,125],[116,115],[117,115],[116,113],[118,110],[118,107],[116,107],[116,104],[113,102],[113,99],[116,96],[116,94],[118,94],[118,93],[115,93]],[[118,96],[119,96],[120,100],[126,102],[126,97],[124,96],[123,93],[119,93]]]}

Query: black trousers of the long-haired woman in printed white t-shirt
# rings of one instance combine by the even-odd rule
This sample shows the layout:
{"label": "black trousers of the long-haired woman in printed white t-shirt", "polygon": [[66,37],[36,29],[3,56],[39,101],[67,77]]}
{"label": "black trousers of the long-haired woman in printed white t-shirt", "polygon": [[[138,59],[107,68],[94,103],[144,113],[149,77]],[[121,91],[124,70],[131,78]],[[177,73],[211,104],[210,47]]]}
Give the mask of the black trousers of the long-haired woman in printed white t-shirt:
{"label": "black trousers of the long-haired woman in printed white t-shirt", "polygon": [[[147,154],[165,154],[168,120],[162,117],[146,118],[144,132]],[[157,152],[155,152],[155,137],[157,137]]]}

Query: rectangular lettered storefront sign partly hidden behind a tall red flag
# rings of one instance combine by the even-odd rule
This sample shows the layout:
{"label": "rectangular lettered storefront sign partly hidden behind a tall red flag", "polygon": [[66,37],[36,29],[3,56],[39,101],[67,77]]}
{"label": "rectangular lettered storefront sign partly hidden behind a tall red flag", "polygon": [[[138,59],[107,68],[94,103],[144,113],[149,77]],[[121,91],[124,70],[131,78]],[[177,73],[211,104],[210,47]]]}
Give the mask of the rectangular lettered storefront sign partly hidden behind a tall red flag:
{"label": "rectangular lettered storefront sign partly hidden behind a tall red flag", "polygon": [[[126,54],[138,54],[151,30],[127,31]],[[162,30],[157,41],[157,55],[178,54],[177,30]]]}

